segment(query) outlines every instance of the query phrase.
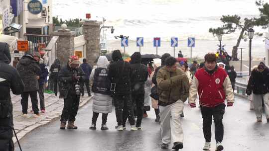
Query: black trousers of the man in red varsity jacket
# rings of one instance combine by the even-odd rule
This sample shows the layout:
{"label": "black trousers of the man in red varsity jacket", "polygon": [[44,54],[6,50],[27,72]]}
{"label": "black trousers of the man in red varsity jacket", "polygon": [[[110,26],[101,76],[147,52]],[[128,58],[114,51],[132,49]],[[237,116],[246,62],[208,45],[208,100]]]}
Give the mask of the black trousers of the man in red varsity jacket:
{"label": "black trousers of the man in red varsity jacket", "polygon": [[220,104],[216,107],[205,107],[201,105],[201,112],[203,117],[203,131],[206,142],[211,142],[211,124],[212,116],[215,123],[215,139],[216,142],[222,142],[223,140],[223,114],[225,112],[225,104]]}

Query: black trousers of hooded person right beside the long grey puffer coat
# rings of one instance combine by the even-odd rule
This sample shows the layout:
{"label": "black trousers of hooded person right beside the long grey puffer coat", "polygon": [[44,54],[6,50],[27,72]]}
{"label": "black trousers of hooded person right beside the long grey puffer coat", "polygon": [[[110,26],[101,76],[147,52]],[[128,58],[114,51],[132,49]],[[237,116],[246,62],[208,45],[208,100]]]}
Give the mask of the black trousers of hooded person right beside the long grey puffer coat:
{"label": "black trousers of hooded person right beside the long grey puffer coat", "polygon": [[113,101],[115,104],[116,118],[118,125],[125,124],[123,121],[124,116],[127,115],[130,125],[134,125],[134,110],[132,103],[132,96],[130,94],[119,95],[115,94],[113,96]]}

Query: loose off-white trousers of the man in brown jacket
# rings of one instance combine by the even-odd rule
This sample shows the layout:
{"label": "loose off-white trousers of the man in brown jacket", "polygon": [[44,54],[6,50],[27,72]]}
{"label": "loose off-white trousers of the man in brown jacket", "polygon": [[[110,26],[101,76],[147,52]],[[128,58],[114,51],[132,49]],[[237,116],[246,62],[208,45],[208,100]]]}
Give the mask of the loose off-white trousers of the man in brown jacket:
{"label": "loose off-white trousers of the man in brown jacket", "polygon": [[180,122],[180,114],[183,112],[183,108],[184,105],[181,100],[167,106],[159,106],[162,143],[169,144],[171,140],[173,143],[183,143],[184,134]]}

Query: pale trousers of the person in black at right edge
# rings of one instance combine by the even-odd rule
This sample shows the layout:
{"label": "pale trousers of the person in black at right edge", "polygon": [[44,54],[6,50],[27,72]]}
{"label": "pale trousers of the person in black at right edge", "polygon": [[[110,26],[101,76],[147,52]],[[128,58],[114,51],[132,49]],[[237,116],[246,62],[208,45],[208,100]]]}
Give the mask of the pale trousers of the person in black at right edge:
{"label": "pale trousers of the person in black at right edge", "polygon": [[269,119],[269,93],[253,94],[253,105],[257,118],[262,118],[263,115],[263,99],[265,104],[266,118]]}

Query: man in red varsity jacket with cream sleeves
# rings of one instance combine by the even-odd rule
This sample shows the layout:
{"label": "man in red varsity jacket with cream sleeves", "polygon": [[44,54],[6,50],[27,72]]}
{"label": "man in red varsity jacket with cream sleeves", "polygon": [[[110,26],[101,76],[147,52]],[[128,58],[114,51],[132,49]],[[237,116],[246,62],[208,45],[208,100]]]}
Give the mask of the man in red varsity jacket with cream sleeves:
{"label": "man in red varsity jacket with cream sleeves", "polygon": [[203,132],[205,138],[204,151],[210,150],[212,116],[215,123],[216,151],[222,151],[223,140],[223,114],[225,112],[225,99],[227,106],[233,106],[234,93],[229,76],[224,69],[217,67],[216,55],[205,55],[205,67],[199,69],[193,76],[189,91],[189,104],[196,107],[196,96],[199,95],[200,107],[203,117]]}

